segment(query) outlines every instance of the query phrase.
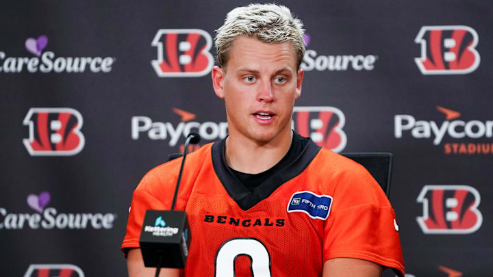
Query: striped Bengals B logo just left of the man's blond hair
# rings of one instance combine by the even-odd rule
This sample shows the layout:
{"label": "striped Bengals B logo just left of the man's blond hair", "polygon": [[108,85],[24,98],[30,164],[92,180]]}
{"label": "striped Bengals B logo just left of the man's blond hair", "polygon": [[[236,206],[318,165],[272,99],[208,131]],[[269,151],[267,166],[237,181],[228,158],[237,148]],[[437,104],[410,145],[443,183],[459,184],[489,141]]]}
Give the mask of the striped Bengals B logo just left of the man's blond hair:
{"label": "striped Bengals B logo just left of the man's blond hair", "polygon": [[214,66],[212,38],[201,29],[160,29],[151,45],[157,47],[151,64],[159,77],[200,77]]}

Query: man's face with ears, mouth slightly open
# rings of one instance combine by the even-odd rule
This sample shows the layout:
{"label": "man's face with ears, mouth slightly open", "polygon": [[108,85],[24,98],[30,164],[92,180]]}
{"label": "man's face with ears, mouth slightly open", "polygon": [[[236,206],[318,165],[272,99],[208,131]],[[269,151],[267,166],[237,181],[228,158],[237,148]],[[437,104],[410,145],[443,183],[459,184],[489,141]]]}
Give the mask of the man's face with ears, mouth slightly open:
{"label": "man's face with ears, mouth slightly open", "polygon": [[230,135],[260,144],[290,135],[302,80],[303,70],[296,70],[296,54],[289,42],[236,38],[225,70],[217,66],[212,70],[216,95],[225,99]]}

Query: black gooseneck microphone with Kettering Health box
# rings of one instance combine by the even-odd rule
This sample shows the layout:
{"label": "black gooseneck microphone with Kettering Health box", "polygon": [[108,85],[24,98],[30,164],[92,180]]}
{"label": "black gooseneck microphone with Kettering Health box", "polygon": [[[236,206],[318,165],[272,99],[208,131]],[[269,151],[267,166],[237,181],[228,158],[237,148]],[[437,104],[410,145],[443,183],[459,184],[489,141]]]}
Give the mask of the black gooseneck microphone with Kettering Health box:
{"label": "black gooseneck microphone with Kettering Health box", "polygon": [[171,210],[147,210],[144,216],[139,239],[140,252],[146,267],[156,267],[156,277],[161,267],[185,268],[192,234],[185,211],[175,211],[175,204],[188,145],[197,144],[200,139],[195,132],[190,132],[186,138]]}

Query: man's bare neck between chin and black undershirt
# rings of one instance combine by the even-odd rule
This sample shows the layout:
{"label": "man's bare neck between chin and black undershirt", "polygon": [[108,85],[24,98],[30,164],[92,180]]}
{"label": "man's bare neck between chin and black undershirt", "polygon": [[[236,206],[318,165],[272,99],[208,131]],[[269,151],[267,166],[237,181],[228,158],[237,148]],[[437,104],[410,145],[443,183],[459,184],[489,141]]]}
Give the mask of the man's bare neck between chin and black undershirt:
{"label": "man's bare neck between chin and black undershirt", "polygon": [[288,131],[264,144],[230,133],[225,150],[228,166],[249,174],[258,174],[272,168],[288,153],[292,142],[292,131]]}

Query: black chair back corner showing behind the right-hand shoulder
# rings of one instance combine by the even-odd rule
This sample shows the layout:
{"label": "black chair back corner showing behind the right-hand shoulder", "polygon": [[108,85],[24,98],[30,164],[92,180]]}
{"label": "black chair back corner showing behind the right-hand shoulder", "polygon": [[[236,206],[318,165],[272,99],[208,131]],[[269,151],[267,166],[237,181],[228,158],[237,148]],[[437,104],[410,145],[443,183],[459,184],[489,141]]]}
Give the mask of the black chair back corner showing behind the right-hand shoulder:
{"label": "black chair back corner showing behind the right-hand shoulder", "polygon": [[379,183],[387,198],[390,196],[390,179],[392,177],[392,154],[390,153],[341,153],[361,164]]}

